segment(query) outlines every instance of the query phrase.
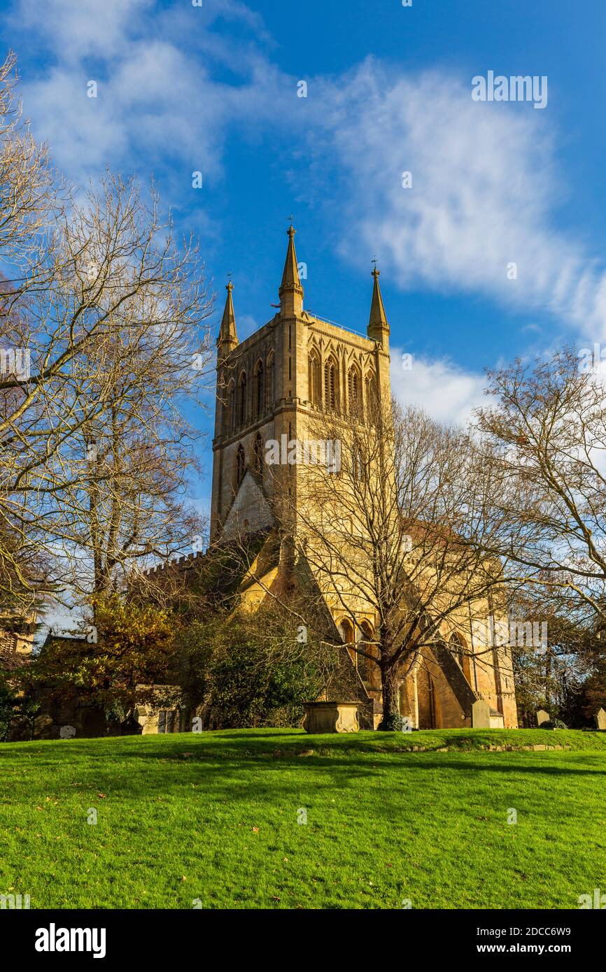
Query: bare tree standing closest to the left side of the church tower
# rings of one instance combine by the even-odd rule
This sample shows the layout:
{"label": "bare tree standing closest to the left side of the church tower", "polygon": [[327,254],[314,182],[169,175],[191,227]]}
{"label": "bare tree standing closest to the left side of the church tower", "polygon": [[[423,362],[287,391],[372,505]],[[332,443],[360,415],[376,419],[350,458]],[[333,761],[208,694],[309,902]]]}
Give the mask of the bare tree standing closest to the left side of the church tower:
{"label": "bare tree standing closest to the left side of the church tower", "polygon": [[7,428],[19,447],[3,471],[21,536],[60,551],[60,579],[84,593],[192,541],[181,501],[196,436],[183,406],[204,390],[212,303],[196,249],[176,249],[157,198],[148,208],[132,182],[108,176],[63,229],[71,272],[58,294],[36,295],[29,332],[40,356],[45,335],[48,367],[27,382],[17,433]]}

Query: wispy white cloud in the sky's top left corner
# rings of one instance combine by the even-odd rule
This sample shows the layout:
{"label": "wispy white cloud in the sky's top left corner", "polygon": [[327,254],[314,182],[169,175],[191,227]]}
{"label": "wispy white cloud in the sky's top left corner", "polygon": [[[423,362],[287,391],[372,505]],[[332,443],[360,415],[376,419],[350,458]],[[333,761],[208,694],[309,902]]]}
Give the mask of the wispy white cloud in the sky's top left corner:
{"label": "wispy white cloud in the sky's top left corner", "polygon": [[[142,177],[165,166],[171,190],[178,180],[182,190],[191,186],[194,171],[221,178],[229,127],[242,134],[286,116],[286,91],[258,52],[257,35],[228,45],[213,31],[221,15],[240,20],[245,32],[262,30],[260,18],[233,0],[187,10],[159,9],[155,0],[50,0],[35,17],[22,2],[16,29],[35,31],[53,53],[51,66],[28,75],[21,90],[54,164],[81,184],[107,163]],[[215,80],[224,63],[229,84]],[[96,97],[88,96],[89,81]]]}

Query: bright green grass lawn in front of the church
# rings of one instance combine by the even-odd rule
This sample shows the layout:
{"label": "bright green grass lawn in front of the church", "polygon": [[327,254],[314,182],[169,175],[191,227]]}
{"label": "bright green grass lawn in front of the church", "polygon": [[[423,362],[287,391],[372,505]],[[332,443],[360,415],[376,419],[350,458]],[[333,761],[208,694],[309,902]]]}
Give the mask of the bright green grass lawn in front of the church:
{"label": "bright green grass lawn in front of the church", "polygon": [[[481,749],[533,744],[571,748]],[[2,744],[0,894],[32,908],[577,908],[606,892],[605,781],[606,733],[568,730]]]}

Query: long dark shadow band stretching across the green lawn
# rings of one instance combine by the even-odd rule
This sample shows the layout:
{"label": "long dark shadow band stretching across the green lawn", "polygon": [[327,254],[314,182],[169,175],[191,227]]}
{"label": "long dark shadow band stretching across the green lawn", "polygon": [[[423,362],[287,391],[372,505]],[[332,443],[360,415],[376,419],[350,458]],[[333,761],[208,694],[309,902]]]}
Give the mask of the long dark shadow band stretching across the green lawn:
{"label": "long dark shadow band stretching across the green lawn", "polygon": [[[485,755],[490,758],[486,759]],[[517,759],[512,759],[511,753],[506,759],[504,753],[485,755],[478,759],[472,753],[463,753],[452,759],[446,753],[413,753],[404,759],[385,759],[384,754],[380,754],[375,757],[375,763],[372,756],[352,758],[341,754],[331,758],[279,756],[260,759],[243,757],[240,753],[237,761],[229,757],[182,759],[157,754],[154,760],[151,753],[125,749],[120,762],[106,763],[95,759],[76,765],[63,764],[57,770],[56,761],[43,760],[35,767],[30,766],[30,772],[21,773],[18,779],[13,774],[5,776],[0,794],[5,807],[7,804],[12,807],[21,805],[31,810],[36,805],[44,805],[49,794],[57,797],[59,803],[68,797],[69,803],[73,803],[80,797],[89,802],[91,792],[97,797],[102,792],[108,807],[159,798],[186,799],[188,802],[202,798],[208,803],[229,803],[237,811],[241,805],[267,801],[267,797],[277,805],[292,799],[294,794],[308,792],[310,798],[321,799],[327,789],[344,793],[363,784],[367,796],[375,790],[376,810],[383,816],[391,812],[390,790],[396,802],[403,795],[403,784],[408,792],[421,798],[425,781],[431,780],[434,785],[437,774],[444,774],[445,788],[467,794],[484,785],[481,774],[487,774],[495,784],[500,778],[499,785],[519,782],[520,777],[524,780],[534,778],[535,781],[563,778],[597,781],[606,775],[606,765],[602,765],[597,754],[591,753],[575,753],[573,759],[566,758],[568,753],[558,753],[565,758],[556,762],[541,758],[543,753],[523,753]],[[486,780],[485,776],[483,780]],[[371,787],[369,781],[372,781]]]}

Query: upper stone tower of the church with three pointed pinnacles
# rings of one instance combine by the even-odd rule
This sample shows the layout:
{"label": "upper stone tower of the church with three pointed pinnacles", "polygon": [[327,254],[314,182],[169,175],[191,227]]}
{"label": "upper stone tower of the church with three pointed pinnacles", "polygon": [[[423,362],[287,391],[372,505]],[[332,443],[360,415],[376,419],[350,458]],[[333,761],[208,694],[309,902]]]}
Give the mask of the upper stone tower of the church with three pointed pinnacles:
{"label": "upper stone tower of the church with three pointed pinnacles", "polygon": [[374,270],[368,336],[344,330],[303,310],[295,232],[280,284],[280,309],[241,343],[227,286],[217,341],[217,408],[213,442],[211,543],[271,523],[266,442],[303,439],[324,404],[348,411],[349,398],[390,400],[389,326]]}

